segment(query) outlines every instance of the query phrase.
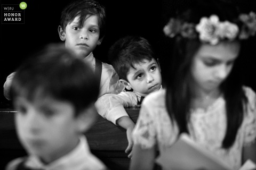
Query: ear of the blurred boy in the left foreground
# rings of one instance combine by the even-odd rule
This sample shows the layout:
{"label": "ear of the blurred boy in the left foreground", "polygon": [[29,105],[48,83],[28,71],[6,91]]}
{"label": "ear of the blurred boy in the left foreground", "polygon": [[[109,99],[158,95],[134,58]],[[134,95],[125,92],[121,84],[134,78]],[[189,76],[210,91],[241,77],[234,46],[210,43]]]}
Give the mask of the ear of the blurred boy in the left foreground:
{"label": "ear of the blurred boy in the left foreground", "polygon": [[76,117],[78,131],[84,133],[89,130],[97,118],[97,110],[92,103]]}

